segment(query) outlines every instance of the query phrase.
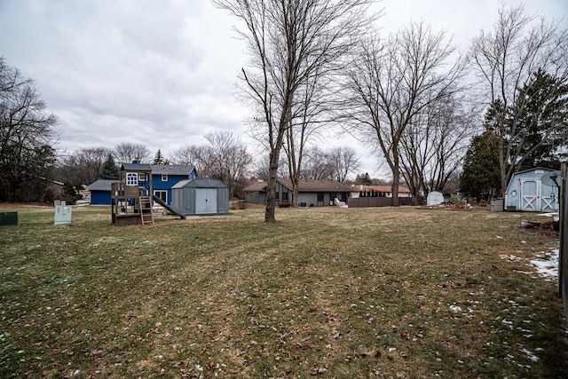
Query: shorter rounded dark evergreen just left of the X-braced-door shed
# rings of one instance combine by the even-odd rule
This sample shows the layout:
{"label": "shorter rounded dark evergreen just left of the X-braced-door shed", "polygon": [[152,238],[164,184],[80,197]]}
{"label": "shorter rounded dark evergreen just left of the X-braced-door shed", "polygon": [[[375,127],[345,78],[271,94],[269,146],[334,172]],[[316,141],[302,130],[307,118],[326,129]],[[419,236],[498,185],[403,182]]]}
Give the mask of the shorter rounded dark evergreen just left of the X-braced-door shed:
{"label": "shorter rounded dark evergreen just left of the X-braced-door shed", "polygon": [[485,130],[471,139],[463,162],[460,191],[466,196],[488,201],[501,192],[499,169],[499,138],[492,130]]}

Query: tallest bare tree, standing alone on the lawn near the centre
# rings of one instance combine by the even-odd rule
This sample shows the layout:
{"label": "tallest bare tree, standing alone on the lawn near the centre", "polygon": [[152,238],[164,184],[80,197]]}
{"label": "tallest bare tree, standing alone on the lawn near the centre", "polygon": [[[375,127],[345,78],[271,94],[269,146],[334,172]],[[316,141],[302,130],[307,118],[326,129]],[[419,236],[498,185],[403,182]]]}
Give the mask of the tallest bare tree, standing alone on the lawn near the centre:
{"label": "tallest bare tree, standing alone on the lawn near the centre", "polygon": [[242,20],[251,66],[242,90],[262,114],[270,162],[264,222],[275,221],[275,184],[280,150],[294,117],[298,89],[318,70],[335,69],[367,28],[374,0],[214,0]]}

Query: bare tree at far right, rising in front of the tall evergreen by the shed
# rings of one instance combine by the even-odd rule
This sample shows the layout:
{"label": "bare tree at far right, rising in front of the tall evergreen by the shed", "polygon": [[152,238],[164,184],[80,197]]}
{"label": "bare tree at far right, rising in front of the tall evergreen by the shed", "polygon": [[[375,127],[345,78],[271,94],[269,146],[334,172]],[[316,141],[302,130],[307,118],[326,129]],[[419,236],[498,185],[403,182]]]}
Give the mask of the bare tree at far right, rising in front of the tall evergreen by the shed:
{"label": "bare tree at far right, rising in front of the tall evergreen by the shed", "polygon": [[493,107],[494,112],[493,132],[499,138],[501,190],[507,187],[512,173],[527,156],[547,143],[556,130],[565,128],[561,118],[541,125],[540,142],[530,149],[519,148],[529,130],[521,120],[533,101],[530,96],[522,99],[521,92],[530,92],[527,85],[531,83],[531,75],[542,70],[556,78],[558,87],[568,81],[568,32],[561,26],[561,21],[547,22],[528,15],[523,5],[509,9],[503,6],[493,30],[481,30],[472,42],[471,65],[485,104]]}

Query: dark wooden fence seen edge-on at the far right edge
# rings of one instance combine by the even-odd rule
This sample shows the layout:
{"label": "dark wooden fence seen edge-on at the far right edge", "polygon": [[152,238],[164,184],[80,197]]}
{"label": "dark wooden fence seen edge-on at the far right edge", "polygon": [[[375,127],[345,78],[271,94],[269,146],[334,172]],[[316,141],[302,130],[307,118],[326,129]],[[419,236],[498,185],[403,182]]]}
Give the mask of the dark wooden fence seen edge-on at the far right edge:
{"label": "dark wooden fence seen edge-on at the far right edge", "polygon": [[562,163],[560,169],[560,257],[558,259],[558,295],[564,300],[564,314],[568,323],[568,167]]}

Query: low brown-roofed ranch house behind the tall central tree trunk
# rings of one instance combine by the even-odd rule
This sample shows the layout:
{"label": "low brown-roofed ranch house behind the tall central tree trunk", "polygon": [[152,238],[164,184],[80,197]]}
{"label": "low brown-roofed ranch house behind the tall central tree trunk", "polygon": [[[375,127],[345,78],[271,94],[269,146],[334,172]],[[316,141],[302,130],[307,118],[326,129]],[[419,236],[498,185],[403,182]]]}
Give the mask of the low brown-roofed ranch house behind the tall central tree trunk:
{"label": "low brown-roofed ranch house behind the tall central tree trunk", "polygon": [[[245,188],[248,202],[266,202],[266,182],[257,182]],[[297,203],[301,207],[333,205],[335,198],[348,202],[351,186],[333,180],[300,180]],[[289,179],[276,180],[276,204],[288,205],[293,199],[292,182]]]}

